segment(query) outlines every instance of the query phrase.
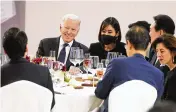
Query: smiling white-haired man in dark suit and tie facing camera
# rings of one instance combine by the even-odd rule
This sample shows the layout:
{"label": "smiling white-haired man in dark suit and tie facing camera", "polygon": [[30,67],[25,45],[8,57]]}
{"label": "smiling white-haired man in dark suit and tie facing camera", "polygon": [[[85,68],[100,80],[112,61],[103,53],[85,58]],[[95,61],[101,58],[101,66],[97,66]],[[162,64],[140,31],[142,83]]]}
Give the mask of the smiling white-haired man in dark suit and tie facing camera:
{"label": "smiling white-haired man in dark suit and tie facing camera", "polygon": [[83,49],[84,53],[88,52],[88,48],[85,45],[75,41],[80,24],[81,21],[78,16],[73,14],[65,15],[60,24],[61,36],[41,40],[37,56],[49,56],[50,50],[55,51],[56,60],[63,62],[68,70],[73,65],[69,60],[71,47],[79,47]]}

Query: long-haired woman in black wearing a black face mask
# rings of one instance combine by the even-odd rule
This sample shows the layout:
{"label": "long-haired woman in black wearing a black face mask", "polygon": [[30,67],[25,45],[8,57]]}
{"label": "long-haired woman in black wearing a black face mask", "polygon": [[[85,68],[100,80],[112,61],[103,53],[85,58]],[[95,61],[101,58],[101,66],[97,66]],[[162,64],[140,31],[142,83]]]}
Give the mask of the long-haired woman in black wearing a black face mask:
{"label": "long-haired woman in black wearing a black face mask", "polygon": [[90,44],[89,52],[99,59],[106,59],[108,52],[119,52],[126,55],[125,44],[121,41],[119,22],[114,17],[106,18],[100,26],[98,34],[99,42]]}

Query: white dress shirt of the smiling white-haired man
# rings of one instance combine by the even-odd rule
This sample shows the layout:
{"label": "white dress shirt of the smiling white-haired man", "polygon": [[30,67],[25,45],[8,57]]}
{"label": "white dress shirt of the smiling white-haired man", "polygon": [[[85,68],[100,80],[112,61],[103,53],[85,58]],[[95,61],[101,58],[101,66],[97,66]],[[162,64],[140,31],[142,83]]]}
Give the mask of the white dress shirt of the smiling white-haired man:
{"label": "white dress shirt of the smiling white-haired man", "polygon": [[[59,55],[60,55],[60,51],[61,51],[62,48],[64,47],[64,44],[65,44],[64,40],[62,39],[62,37],[60,37],[60,43],[59,43],[59,50],[58,50],[57,59],[58,59],[58,57],[59,57]],[[64,62],[64,64],[66,64],[66,62],[67,62],[68,54],[69,54],[69,52],[70,52],[70,48],[71,48],[72,44],[73,44],[73,40],[68,43],[68,46],[65,47],[66,55],[65,55],[65,62]]]}

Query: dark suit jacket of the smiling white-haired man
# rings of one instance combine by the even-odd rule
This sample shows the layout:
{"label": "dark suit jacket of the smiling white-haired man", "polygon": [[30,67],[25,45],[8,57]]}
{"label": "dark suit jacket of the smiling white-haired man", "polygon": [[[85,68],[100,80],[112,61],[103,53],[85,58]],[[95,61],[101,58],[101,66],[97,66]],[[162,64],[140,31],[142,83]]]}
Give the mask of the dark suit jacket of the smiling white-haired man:
{"label": "dark suit jacket of the smiling white-haired man", "polygon": [[[60,37],[54,37],[54,38],[45,38],[43,40],[40,41],[39,47],[38,47],[38,51],[36,53],[37,57],[39,56],[49,56],[50,50],[53,50],[56,52],[56,60],[58,57],[58,50],[59,50],[59,43],[60,43]],[[72,47],[79,47],[80,49],[83,49],[84,53],[88,53],[88,48],[73,40],[73,44]],[[70,60],[69,60],[69,56],[67,58],[67,62],[66,62],[66,68],[67,70],[69,69],[69,67],[73,65]]]}

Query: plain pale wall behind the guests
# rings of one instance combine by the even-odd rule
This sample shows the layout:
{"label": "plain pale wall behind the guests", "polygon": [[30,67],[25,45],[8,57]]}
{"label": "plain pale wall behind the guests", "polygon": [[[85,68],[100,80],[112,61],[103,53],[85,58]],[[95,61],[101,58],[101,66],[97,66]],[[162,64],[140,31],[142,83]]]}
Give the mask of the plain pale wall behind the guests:
{"label": "plain pale wall behind the guests", "polygon": [[176,2],[171,1],[27,1],[25,31],[29,38],[29,53],[35,54],[41,39],[60,35],[59,25],[63,15],[78,15],[81,29],[77,41],[89,47],[97,42],[101,22],[108,16],[118,19],[122,30],[122,41],[130,23],[138,20],[153,22],[153,16],[167,14],[176,23]]}

